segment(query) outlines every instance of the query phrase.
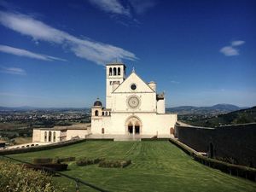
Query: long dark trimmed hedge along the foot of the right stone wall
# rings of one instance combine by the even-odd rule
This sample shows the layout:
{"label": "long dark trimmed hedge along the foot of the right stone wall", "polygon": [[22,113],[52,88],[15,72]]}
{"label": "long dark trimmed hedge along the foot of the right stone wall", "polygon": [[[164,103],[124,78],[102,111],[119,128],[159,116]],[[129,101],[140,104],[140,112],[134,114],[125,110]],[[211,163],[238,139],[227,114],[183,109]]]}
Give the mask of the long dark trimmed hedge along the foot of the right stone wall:
{"label": "long dark trimmed hedge along the foot of the right stone wall", "polygon": [[171,143],[175,144],[178,148],[181,148],[186,154],[189,154],[194,158],[194,160],[200,162],[205,166],[210,166],[214,169],[218,169],[221,172],[229,173],[230,175],[234,175],[237,177],[245,177],[249,180],[256,181],[256,169],[248,167],[248,166],[239,166],[230,163],[226,163],[224,161],[211,159],[201,154],[195,152],[192,148],[189,148],[187,145],[178,142],[177,140],[170,139]]}

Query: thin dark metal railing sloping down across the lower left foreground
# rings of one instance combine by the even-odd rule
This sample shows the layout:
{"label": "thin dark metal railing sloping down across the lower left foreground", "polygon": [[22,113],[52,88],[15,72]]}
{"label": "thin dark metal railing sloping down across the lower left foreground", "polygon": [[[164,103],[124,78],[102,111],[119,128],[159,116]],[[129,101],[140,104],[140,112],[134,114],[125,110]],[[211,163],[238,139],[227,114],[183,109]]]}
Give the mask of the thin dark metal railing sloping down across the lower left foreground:
{"label": "thin dark metal railing sloping down across the lower left foreground", "polygon": [[[12,157],[9,157],[9,156],[6,156],[6,155],[1,155],[1,157],[3,158],[6,158],[6,159],[9,159],[9,160],[15,160],[17,162],[20,162],[20,163],[23,163],[23,164],[26,164],[26,165],[31,165],[31,166],[35,166],[34,164],[32,163],[29,163],[29,162],[26,162],[26,161],[23,161],[23,160],[17,160],[15,158],[12,158]],[[108,192],[108,190],[105,190],[105,189],[101,189],[99,187],[97,187],[96,185],[93,185],[93,184],[90,184],[90,183],[87,183],[87,182],[84,182],[83,180],[81,180],[80,178],[78,177],[71,177],[69,175],[66,175],[62,172],[56,172],[48,167],[45,167],[45,166],[41,166],[43,171],[48,171],[48,172],[52,172],[52,173],[55,173],[55,174],[58,174],[58,175],[61,175],[63,177],[67,177],[71,180],[73,180],[75,182],[75,185],[76,185],[76,192],[79,192],[79,184],[83,184],[87,187],[90,187],[91,189],[96,189],[97,191],[102,191],[102,192]]]}

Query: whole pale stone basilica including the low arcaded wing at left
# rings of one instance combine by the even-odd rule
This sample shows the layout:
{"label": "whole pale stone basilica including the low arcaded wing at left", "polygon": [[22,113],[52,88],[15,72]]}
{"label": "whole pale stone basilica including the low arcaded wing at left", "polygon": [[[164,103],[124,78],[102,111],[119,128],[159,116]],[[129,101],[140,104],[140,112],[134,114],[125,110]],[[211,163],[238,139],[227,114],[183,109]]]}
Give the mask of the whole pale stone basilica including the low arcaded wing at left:
{"label": "whole pale stone basilica including the low arcaded wing at left", "polygon": [[165,94],[145,83],[135,70],[126,78],[125,64],[106,65],[106,107],[97,99],[90,124],[33,129],[32,145],[76,138],[172,137],[177,114],[166,113]]}

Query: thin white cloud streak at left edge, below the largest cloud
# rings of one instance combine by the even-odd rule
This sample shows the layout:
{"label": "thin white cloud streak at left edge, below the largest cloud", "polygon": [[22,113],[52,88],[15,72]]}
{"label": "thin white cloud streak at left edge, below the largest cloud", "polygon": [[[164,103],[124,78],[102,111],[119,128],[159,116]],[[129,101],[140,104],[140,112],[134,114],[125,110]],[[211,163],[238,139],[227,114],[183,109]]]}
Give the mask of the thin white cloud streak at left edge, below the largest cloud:
{"label": "thin white cloud streak at left edge, below the largest cloud", "polygon": [[9,47],[7,45],[0,44],[0,51],[3,53],[8,53],[12,55],[18,55],[18,56],[26,56],[32,59],[38,59],[38,60],[44,60],[44,61],[67,61],[55,56],[49,56],[49,55],[42,55],[33,53],[31,51],[25,50],[25,49],[18,49],[14,47]]}

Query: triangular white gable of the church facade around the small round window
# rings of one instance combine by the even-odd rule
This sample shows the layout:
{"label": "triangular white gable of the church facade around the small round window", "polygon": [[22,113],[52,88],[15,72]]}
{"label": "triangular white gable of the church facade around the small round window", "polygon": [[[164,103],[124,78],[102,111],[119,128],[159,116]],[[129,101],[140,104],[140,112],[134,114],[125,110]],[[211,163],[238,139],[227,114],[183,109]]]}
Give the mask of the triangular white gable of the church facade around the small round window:
{"label": "triangular white gable of the church facade around the small round window", "polygon": [[[131,84],[137,85],[137,90],[131,90]],[[121,93],[121,92],[152,92],[155,91],[152,90],[147,83],[141,79],[135,71],[132,71],[132,73],[121,83],[119,86],[113,90],[113,93]]]}

